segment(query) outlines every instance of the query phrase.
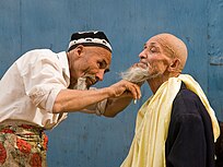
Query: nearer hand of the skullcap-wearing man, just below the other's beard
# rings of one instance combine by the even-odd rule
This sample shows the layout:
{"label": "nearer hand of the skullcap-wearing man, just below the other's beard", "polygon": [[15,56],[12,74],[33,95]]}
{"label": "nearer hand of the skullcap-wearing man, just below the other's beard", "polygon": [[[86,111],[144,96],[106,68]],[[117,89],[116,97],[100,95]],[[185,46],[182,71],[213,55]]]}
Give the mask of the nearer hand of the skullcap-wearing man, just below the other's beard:
{"label": "nearer hand of the skullcap-wearing man, just below the other's beard", "polygon": [[140,86],[126,80],[121,80],[109,86],[111,97],[119,97],[124,94],[132,96],[134,99],[141,98]]}

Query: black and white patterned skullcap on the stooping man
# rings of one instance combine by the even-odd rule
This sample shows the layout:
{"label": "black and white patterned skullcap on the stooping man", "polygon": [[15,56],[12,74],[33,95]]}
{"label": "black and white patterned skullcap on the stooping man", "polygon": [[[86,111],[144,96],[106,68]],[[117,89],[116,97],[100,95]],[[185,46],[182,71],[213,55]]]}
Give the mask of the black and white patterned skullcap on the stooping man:
{"label": "black and white patterned skullcap on the stooping man", "polygon": [[75,48],[78,45],[83,46],[99,46],[108,49],[111,52],[111,46],[108,38],[103,32],[78,32],[73,33],[69,43],[68,50]]}

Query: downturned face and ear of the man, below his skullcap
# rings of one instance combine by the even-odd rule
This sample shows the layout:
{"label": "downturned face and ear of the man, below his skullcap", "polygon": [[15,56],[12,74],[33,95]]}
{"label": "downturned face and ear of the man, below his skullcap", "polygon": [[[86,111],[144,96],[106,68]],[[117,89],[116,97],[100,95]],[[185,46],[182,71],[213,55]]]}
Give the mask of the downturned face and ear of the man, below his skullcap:
{"label": "downturned face and ear of the man, below his skullcap", "polygon": [[102,47],[83,47],[79,57],[73,61],[71,76],[77,80],[85,79],[86,87],[103,81],[104,74],[109,71],[111,52]]}

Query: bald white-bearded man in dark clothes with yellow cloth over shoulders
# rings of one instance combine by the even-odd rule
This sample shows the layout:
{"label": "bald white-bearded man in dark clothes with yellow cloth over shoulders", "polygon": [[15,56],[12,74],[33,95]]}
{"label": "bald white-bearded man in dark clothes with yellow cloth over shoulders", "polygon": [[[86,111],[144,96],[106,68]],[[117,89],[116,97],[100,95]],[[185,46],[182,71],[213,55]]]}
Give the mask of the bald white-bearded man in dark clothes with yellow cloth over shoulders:
{"label": "bald white-bearded man in dark clothes with yellow cloth over shoulders", "polygon": [[122,73],[153,92],[140,108],[134,138],[121,167],[214,167],[220,129],[204,93],[188,74],[186,45],[172,34],[150,38],[140,62]]}

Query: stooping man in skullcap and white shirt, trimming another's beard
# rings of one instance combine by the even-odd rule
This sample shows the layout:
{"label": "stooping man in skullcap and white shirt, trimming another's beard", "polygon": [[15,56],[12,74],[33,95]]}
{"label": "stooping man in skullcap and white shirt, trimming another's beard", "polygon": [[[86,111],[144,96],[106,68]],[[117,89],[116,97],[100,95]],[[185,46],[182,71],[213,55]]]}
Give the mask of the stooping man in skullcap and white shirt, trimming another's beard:
{"label": "stooping man in skullcap and white shirt, trimming another's beard", "polygon": [[44,130],[68,112],[110,117],[139,98],[140,87],[127,81],[90,90],[109,71],[110,60],[103,32],[74,33],[67,52],[36,49],[19,58],[0,81],[0,165],[47,166]]}

